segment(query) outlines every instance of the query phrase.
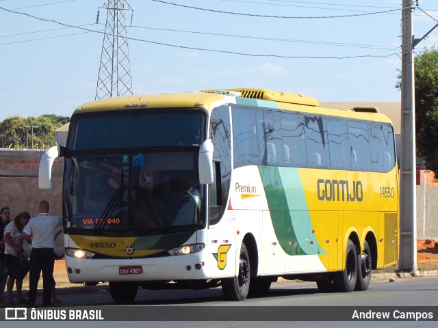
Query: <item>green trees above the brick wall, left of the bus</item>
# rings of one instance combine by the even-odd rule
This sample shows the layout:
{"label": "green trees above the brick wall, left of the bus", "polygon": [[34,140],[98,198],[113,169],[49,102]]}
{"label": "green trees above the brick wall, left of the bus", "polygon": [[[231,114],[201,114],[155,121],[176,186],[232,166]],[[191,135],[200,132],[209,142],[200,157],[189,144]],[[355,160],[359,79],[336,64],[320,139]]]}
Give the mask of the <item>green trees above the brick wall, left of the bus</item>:
{"label": "green trees above the brick wall, left of the bus", "polygon": [[1,148],[31,148],[31,128],[34,128],[34,148],[49,148],[55,145],[55,130],[68,123],[70,118],[57,115],[40,115],[38,118],[13,116],[0,122]]}

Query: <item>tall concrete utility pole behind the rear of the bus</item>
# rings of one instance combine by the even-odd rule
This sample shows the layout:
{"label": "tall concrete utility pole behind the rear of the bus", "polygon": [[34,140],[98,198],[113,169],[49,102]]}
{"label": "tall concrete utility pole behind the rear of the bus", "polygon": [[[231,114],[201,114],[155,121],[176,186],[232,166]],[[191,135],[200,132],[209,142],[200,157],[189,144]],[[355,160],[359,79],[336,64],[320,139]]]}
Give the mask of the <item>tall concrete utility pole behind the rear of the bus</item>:
{"label": "tall concrete utility pole behind the rear of the bus", "polygon": [[413,3],[402,3],[402,154],[400,162],[400,257],[398,269],[417,270],[417,199]]}

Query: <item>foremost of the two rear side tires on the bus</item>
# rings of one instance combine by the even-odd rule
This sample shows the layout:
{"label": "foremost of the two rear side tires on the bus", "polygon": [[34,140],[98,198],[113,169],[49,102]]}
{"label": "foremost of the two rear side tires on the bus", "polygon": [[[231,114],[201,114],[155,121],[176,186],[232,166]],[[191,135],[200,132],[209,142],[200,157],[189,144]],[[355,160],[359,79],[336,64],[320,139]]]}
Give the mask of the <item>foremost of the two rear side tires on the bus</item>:
{"label": "foremost of the two rear side tires on the bus", "polygon": [[345,255],[345,269],[335,273],[335,285],[338,292],[352,292],[357,282],[357,252],[355,244],[348,239]]}

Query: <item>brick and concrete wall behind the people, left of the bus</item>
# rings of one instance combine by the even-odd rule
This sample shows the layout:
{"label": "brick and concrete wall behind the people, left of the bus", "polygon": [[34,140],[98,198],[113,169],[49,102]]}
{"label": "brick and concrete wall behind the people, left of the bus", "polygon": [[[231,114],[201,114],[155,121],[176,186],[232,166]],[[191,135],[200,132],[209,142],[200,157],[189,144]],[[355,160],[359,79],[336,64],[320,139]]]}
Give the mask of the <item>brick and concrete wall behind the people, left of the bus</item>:
{"label": "brick and concrete wall behind the people, left of the bus", "polygon": [[38,215],[38,204],[47,200],[49,213],[62,215],[62,171],[64,161],[55,160],[52,188],[38,189],[38,167],[44,150],[0,149],[0,208],[11,210],[11,218],[27,211]]}

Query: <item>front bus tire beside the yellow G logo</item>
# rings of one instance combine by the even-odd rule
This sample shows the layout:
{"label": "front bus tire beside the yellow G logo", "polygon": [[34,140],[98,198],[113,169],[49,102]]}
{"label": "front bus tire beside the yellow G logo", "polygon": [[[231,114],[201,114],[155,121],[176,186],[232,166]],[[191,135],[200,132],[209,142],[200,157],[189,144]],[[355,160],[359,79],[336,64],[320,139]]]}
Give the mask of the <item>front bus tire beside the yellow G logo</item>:
{"label": "front bus tire beside the yellow G logo", "polygon": [[222,292],[230,301],[244,301],[250,286],[250,262],[246,246],[242,243],[239,256],[239,275],[222,279]]}

